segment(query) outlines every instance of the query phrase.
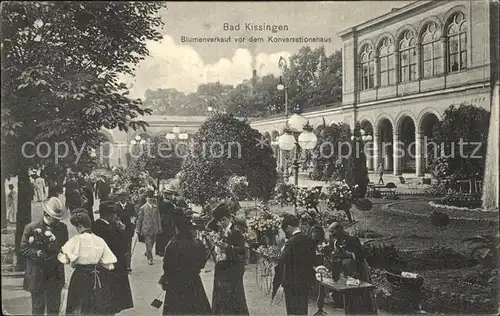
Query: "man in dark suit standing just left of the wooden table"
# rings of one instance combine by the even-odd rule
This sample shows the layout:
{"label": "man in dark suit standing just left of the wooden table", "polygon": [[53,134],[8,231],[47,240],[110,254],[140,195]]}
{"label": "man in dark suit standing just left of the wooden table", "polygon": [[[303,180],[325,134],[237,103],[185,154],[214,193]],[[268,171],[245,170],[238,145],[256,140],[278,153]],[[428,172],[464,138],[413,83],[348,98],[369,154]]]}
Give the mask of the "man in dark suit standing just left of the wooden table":
{"label": "man in dark suit standing just left of the wooden table", "polygon": [[315,243],[300,231],[297,216],[286,214],[281,229],[289,238],[279,260],[286,312],[288,315],[307,315],[309,291],[315,282]]}

